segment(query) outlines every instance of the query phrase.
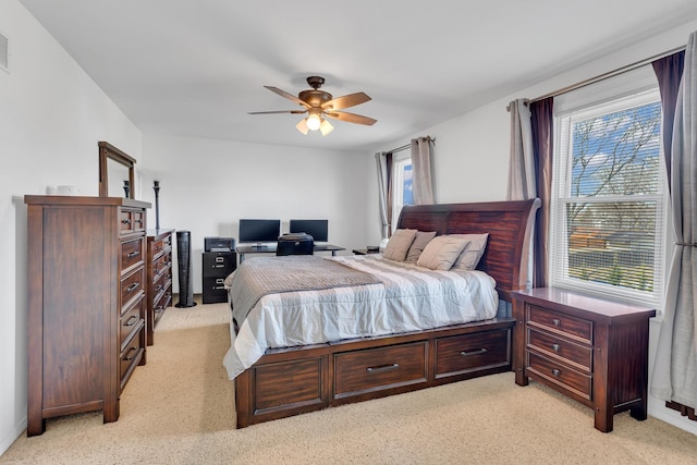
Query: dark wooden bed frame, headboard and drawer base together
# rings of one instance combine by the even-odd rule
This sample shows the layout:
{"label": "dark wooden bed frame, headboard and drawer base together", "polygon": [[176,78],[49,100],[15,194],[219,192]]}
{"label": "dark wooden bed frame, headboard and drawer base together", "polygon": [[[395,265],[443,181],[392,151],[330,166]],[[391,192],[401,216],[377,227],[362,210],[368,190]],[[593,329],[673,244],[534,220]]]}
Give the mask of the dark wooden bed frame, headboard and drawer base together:
{"label": "dark wooden bed frame, headboard and drawer base together", "polygon": [[[501,299],[525,289],[540,200],[404,207],[398,228],[438,234],[489,233],[477,267]],[[235,382],[237,428],[329,406],[511,370],[513,318],[269,348]]]}

